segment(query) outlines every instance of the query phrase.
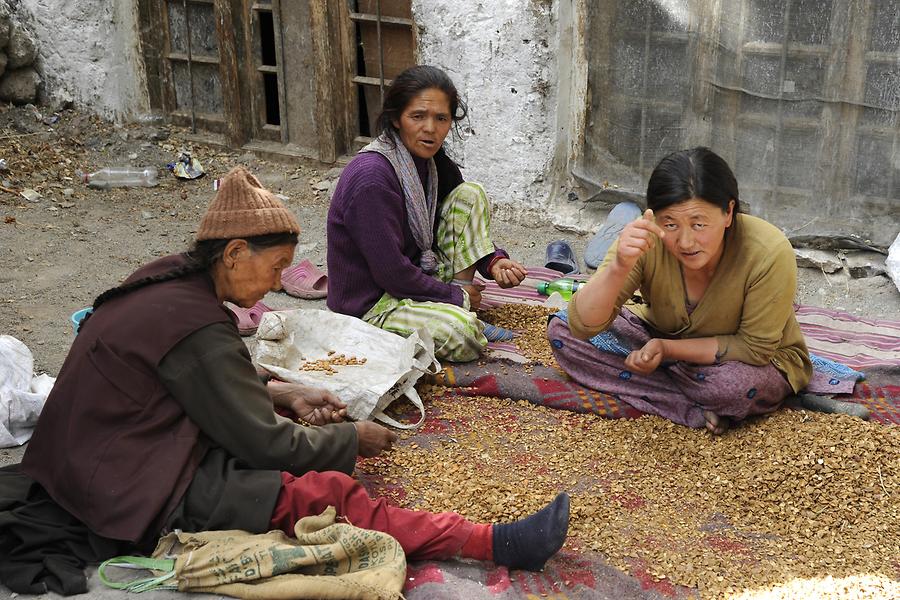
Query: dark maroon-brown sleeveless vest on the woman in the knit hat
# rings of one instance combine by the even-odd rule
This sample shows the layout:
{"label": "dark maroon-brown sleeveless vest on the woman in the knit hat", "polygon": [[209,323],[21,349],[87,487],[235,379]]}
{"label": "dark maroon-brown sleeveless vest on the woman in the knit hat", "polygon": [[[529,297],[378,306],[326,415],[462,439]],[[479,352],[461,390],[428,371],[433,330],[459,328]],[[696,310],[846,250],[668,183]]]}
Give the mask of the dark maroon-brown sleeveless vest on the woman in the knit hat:
{"label": "dark maroon-brown sleeveless vest on the woman in the knit hat", "polygon": [[[157,260],[129,281],[183,262]],[[185,336],[230,320],[205,273],[105,303],[75,337],[24,472],[96,533],[140,541],[174,508],[206,451],[157,365]]]}

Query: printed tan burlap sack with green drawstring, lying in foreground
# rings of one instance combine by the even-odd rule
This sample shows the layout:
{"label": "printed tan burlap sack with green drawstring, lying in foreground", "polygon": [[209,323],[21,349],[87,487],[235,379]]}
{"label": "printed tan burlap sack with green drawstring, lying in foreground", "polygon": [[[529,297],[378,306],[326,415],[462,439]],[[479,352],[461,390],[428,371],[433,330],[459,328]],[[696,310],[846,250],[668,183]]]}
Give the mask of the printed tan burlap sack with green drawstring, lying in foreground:
{"label": "printed tan burlap sack with green drawstring, lying in foreground", "polygon": [[[100,566],[100,578],[131,592],[177,589],[254,600],[402,597],[406,555],[390,535],[336,523],[331,506],[297,521],[294,532],[296,539],[281,531],[170,533],[152,558],[110,559]],[[154,576],[115,582],[110,567],[148,569]]]}

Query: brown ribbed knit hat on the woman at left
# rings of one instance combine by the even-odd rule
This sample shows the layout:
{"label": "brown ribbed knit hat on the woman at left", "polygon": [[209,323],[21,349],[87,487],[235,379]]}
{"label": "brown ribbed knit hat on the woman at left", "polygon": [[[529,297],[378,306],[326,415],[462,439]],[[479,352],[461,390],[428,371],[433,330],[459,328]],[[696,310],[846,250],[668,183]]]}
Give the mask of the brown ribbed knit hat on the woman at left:
{"label": "brown ribbed knit hat on the woman at left", "polygon": [[209,203],[197,229],[197,241],[270,233],[300,233],[300,225],[256,177],[244,167],[235,167],[222,179],[216,197]]}

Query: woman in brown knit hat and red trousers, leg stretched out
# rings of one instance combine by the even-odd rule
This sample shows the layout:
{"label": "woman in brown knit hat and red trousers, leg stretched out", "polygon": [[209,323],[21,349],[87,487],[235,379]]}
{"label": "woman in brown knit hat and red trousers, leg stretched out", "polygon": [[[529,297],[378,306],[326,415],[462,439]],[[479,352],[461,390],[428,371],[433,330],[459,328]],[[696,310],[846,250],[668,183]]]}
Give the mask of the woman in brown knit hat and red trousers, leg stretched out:
{"label": "woman in brown knit hat and red trousers, leg stretched out", "polygon": [[[300,230],[243,169],[227,177],[194,248],[101,294],[28,445],[22,470],[93,532],[154,541],[175,528],[280,529],[327,506],[394,536],[412,559],[454,556],[540,569],[565,539],[568,496],[506,525],[373,500],[350,474],[397,436],[344,423],[331,394],[263,381],[225,301],[280,289]],[[292,410],[319,426],[274,411]]]}

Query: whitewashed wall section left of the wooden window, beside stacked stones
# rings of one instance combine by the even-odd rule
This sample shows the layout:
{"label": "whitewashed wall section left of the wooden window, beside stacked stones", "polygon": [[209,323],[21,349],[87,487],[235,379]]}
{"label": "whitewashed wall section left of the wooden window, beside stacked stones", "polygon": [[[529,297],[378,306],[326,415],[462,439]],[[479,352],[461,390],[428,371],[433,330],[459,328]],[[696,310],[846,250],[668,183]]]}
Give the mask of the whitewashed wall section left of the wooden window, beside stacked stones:
{"label": "whitewashed wall section left of the wooden window, beside stacked stones", "polygon": [[33,16],[45,94],[122,119],[147,109],[135,0],[19,0]]}

